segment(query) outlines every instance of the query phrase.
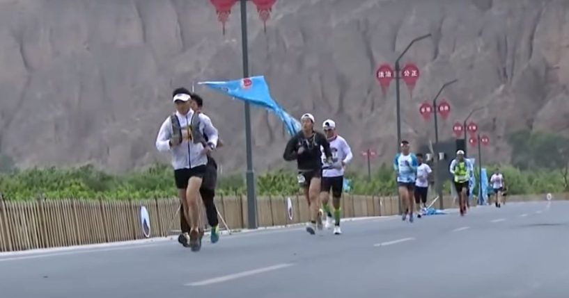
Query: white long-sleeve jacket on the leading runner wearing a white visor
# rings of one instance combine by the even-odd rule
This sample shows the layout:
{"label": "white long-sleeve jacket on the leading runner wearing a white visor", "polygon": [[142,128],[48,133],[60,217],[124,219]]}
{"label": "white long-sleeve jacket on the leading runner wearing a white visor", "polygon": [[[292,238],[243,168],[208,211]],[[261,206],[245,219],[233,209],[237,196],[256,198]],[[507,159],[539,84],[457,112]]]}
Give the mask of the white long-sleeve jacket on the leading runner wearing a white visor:
{"label": "white long-sleeve jacket on the leading runner wearing a white visor", "polygon": [[170,147],[169,140],[173,134],[170,116],[164,120],[156,137],[156,149],[160,152],[170,152],[171,163],[174,169],[191,169],[208,163],[208,157],[202,153],[204,145],[190,140],[192,135],[192,117],[199,117],[198,129],[202,134],[208,135],[208,144],[217,147],[218,133],[210,117],[203,113],[194,113],[190,110],[187,115],[176,112],[176,117],[182,128],[182,142],[176,147]]}

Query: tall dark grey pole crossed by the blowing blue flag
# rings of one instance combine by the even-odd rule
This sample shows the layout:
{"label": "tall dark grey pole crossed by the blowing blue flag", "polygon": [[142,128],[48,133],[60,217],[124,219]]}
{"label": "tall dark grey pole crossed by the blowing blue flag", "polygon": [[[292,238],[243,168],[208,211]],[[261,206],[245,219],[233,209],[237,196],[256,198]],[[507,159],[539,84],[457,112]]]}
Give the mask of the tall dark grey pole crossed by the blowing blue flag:
{"label": "tall dark grey pole crossed by the blowing blue flag", "polygon": [[[241,45],[243,77],[249,77],[249,53],[247,49],[247,0],[240,0],[241,5]],[[247,228],[257,229],[257,200],[255,197],[255,175],[253,171],[253,150],[251,149],[251,106],[245,101],[245,143],[247,147]]]}

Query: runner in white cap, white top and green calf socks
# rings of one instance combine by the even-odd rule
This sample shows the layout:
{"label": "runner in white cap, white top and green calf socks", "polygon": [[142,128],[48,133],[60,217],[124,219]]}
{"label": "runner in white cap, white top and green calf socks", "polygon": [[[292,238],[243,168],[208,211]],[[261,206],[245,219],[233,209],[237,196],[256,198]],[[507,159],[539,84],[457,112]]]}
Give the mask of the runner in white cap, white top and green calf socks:
{"label": "runner in white cap, white top and green calf socks", "polygon": [[[329,193],[332,189],[332,204],[334,205],[334,235],[342,233],[340,229],[340,199],[344,185],[344,167],[348,165],[353,158],[352,149],[348,142],[345,141],[338,133],[336,133],[336,122],[327,119],[322,123],[322,129],[330,143],[332,151],[332,165],[324,167],[322,170],[322,188],[320,190],[320,199],[322,200],[322,209],[326,216],[326,229],[332,227],[332,212],[328,206]],[[322,163],[326,163],[327,157],[322,154]]]}

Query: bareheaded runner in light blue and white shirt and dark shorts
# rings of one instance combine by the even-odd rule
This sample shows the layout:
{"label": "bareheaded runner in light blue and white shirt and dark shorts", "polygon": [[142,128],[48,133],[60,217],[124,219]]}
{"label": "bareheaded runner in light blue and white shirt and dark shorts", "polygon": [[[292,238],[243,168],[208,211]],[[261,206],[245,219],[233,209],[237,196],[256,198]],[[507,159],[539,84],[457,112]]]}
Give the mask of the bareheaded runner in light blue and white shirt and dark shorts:
{"label": "bareheaded runner in light blue and white shirt and dark shorts", "polygon": [[403,208],[405,208],[403,221],[407,220],[407,213],[409,213],[409,222],[413,222],[413,190],[418,165],[415,154],[410,152],[409,142],[403,140],[401,142],[401,152],[393,158],[393,169],[397,173],[399,196],[403,200]]}

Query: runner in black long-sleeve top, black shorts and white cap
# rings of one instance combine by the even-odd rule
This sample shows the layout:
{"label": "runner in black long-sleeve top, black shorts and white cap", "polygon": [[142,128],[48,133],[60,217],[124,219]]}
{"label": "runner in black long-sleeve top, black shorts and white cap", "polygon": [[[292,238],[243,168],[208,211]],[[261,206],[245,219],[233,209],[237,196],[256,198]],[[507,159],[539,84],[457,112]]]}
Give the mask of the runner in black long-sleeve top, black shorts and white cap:
{"label": "runner in black long-sleeve top, black shorts and white cap", "polygon": [[310,223],[306,226],[306,231],[314,235],[317,227],[319,230],[322,229],[322,216],[319,214],[322,149],[324,149],[327,163],[332,163],[332,151],[330,151],[326,136],[314,131],[313,115],[309,113],[302,115],[300,122],[302,131],[288,141],[283,158],[288,161],[297,160],[298,183],[304,188],[304,196],[311,211]]}

